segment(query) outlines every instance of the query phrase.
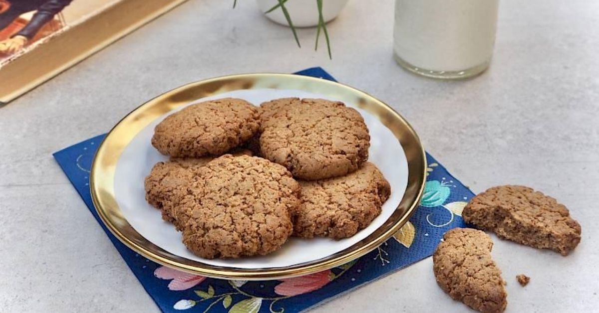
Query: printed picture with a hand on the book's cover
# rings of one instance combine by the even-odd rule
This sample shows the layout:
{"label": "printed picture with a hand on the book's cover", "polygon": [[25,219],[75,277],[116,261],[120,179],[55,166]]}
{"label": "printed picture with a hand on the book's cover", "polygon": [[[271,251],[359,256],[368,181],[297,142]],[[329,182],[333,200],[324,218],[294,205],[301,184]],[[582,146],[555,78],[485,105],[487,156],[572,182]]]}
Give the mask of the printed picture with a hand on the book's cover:
{"label": "printed picture with a hand on the book's cover", "polygon": [[111,2],[0,0],[0,67]]}

